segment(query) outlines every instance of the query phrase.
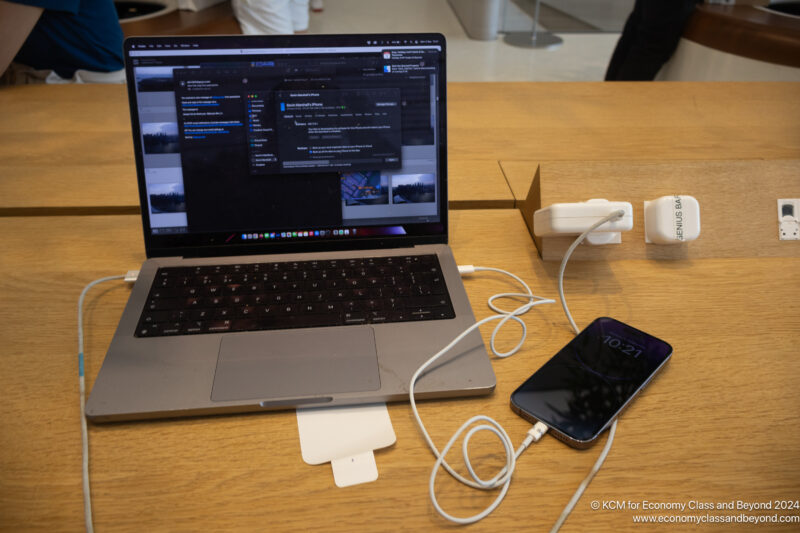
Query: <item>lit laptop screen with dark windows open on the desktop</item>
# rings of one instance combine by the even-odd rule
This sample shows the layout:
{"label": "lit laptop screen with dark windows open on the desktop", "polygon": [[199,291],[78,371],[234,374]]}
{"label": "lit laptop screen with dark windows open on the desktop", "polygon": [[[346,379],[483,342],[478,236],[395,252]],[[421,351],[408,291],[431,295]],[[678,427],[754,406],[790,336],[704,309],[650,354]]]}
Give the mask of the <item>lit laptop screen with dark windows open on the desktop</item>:
{"label": "lit laptop screen with dark windows open on the desktop", "polygon": [[132,38],[148,256],[445,242],[444,37]]}

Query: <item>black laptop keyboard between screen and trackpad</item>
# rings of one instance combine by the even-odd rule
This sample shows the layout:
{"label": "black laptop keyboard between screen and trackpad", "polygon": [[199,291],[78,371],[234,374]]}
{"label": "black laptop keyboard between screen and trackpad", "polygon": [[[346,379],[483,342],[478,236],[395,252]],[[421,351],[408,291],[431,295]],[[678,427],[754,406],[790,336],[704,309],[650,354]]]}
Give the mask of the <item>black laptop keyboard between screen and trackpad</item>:
{"label": "black laptop keyboard between screen and trackpad", "polygon": [[454,318],[435,255],[166,267],[137,337]]}

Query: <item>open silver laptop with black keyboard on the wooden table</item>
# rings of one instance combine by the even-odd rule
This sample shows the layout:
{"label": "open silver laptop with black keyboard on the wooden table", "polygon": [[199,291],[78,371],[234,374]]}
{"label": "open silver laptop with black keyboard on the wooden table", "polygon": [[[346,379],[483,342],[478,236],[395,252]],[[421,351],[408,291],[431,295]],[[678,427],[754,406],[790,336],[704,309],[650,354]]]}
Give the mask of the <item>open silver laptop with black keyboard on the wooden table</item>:
{"label": "open silver laptop with black keyboard on the wooden table", "polygon": [[[408,398],[475,323],[447,246],[438,34],[133,38],[147,261],[95,421]],[[476,331],[418,397],[488,394]]]}

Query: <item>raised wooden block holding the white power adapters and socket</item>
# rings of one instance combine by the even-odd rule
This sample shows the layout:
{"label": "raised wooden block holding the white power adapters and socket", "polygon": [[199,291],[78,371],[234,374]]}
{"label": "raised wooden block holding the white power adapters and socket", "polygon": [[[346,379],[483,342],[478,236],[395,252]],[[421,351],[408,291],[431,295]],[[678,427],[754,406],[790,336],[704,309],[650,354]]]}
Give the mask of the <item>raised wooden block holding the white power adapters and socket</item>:
{"label": "raised wooden block holding the white power adapters and socket", "polygon": [[[533,171],[533,169],[532,169]],[[700,236],[676,244],[646,244],[644,202],[687,194],[700,203]],[[779,198],[800,198],[800,160],[583,161],[542,163],[518,206],[545,261],[560,261],[575,239],[537,237],[533,213],[591,198],[633,205],[633,230],[621,244],[575,250],[577,260],[800,257],[800,241],[778,239]]]}

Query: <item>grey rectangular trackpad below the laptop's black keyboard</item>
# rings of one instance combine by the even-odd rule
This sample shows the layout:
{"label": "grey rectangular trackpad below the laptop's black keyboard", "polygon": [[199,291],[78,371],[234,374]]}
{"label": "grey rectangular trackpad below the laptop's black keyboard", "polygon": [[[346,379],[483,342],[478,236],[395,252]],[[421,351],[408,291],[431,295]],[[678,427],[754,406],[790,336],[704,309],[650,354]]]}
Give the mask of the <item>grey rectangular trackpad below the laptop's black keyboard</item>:
{"label": "grey rectangular trackpad below the laptop's black keyboard", "polygon": [[369,326],[239,333],[222,337],[211,399],[299,399],[380,386]]}

